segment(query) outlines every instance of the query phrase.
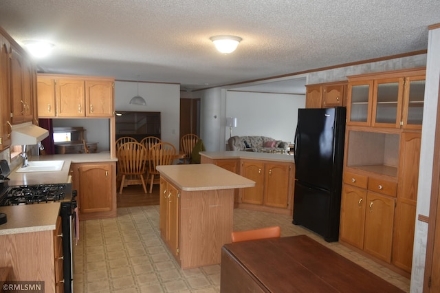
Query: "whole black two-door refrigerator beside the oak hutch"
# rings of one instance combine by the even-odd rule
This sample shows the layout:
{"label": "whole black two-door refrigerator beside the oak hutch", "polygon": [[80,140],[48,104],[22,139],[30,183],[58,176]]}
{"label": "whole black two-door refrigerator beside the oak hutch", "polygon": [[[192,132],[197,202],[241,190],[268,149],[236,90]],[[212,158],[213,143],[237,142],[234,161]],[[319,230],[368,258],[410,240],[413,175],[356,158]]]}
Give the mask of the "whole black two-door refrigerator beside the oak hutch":
{"label": "whole black two-door refrigerator beside the oak hutch", "polygon": [[298,109],[293,224],[338,241],[344,162],[344,107]]}

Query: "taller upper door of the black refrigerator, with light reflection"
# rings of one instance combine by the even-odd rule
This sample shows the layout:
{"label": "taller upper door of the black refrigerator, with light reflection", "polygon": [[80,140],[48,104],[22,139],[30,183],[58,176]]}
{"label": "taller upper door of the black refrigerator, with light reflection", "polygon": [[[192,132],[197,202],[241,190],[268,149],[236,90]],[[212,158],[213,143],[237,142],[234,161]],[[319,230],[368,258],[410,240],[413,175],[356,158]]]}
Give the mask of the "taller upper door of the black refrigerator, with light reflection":
{"label": "taller upper door of the black refrigerator, with light reflection", "polygon": [[336,109],[299,109],[295,135],[295,177],[331,190]]}

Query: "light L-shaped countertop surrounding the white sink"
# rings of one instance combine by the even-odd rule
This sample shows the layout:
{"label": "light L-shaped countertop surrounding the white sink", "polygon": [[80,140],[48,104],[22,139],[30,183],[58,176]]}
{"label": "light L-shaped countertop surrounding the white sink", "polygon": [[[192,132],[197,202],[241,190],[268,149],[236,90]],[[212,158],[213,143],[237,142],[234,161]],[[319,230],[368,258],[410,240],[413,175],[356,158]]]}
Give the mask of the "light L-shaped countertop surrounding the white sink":
{"label": "light L-shaped countertop surrounding the white sink", "polygon": [[61,171],[51,172],[28,172],[16,173],[21,168],[21,158],[19,166],[11,170],[9,186],[17,185],[34,185],[34,184],[63,184],[69,183],[71,178],[69,175],[71,163],[91,163],[91,162],[116,162],[117,158],[111,158],[110,153],[84,153],[84,154],[67,154],[67,155],[40,155],[31,156],[29,161],[50,161],[63,160],[63,169]]}

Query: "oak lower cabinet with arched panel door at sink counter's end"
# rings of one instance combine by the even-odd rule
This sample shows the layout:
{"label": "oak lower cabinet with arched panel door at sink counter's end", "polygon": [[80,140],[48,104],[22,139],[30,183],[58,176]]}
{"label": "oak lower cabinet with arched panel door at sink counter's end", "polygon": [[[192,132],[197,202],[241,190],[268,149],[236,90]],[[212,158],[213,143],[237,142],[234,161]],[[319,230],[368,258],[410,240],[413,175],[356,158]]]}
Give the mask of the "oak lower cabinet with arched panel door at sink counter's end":
{"label": "oak lower cabinet with arched panel door at sink counter's end", "polygon": [[80,219],[116,216],[115,162],[74,163],[71,173]]}

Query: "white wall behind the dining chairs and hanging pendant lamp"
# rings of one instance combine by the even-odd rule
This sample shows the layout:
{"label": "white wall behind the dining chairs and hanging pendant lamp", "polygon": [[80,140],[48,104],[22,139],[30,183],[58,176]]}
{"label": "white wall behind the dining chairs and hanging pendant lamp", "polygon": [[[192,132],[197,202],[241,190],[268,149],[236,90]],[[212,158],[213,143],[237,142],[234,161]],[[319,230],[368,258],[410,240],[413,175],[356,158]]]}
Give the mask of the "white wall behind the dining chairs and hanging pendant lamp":
{"label": "white wall behind the dining chairs and hanging pendant lamp", "polygon": [[157,111],[161,118],[161,138],[179,150],[180,85],[169,83],[139,83],[139,95],[146,105],[129,104],[137,96],[137,83],[115,82],[116,111]]}

